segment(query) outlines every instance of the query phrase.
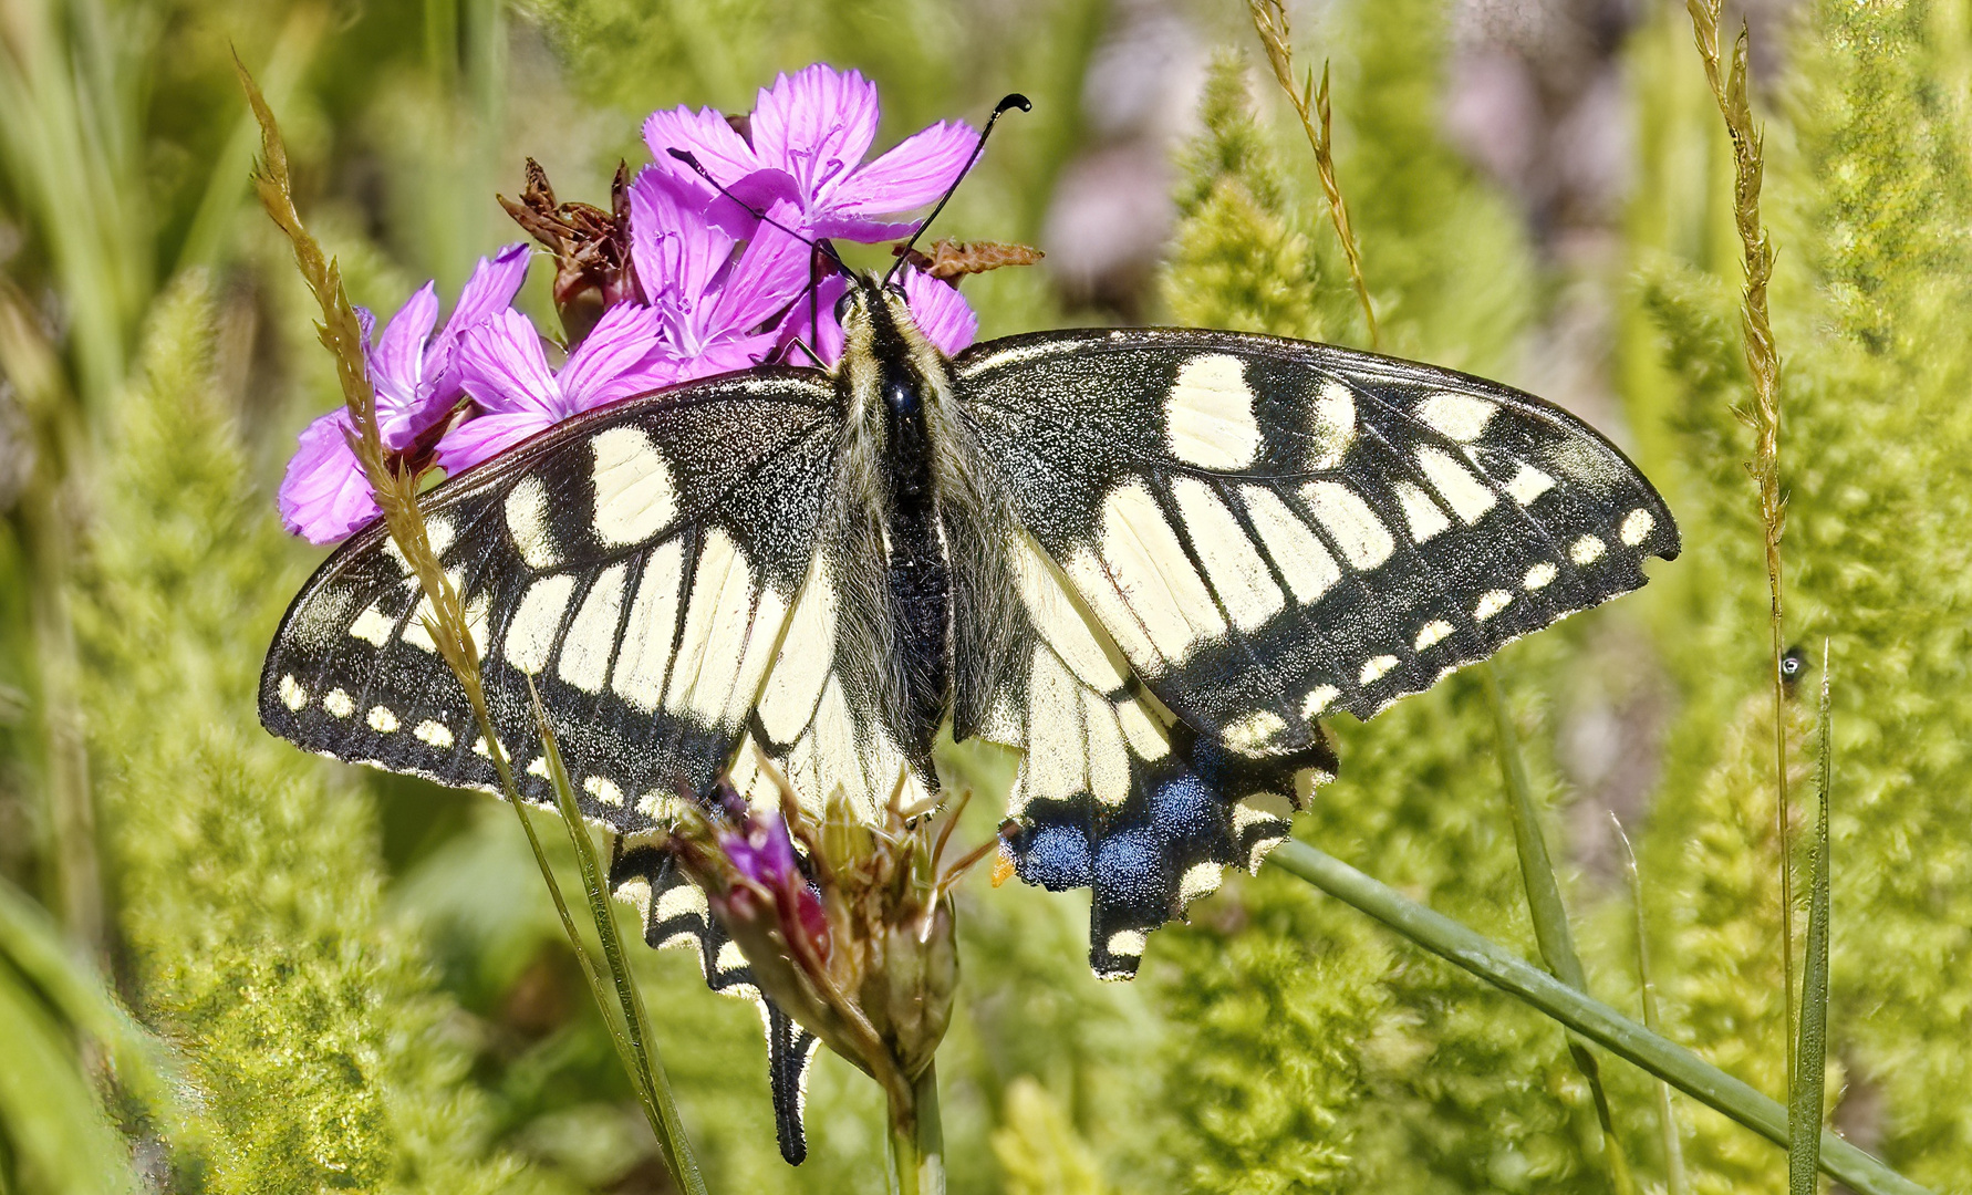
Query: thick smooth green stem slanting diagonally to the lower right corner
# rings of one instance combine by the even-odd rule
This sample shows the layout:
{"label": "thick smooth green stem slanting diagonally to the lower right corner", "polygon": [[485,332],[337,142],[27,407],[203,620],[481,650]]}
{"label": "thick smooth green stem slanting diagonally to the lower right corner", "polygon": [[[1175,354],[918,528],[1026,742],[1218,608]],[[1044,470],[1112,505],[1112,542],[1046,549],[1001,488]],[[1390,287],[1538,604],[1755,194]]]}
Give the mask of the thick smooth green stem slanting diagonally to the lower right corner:
{"label": "thick smooth green stem slanting diagonally to the lower right corner", "polygon": [[[1706,1063],[1674,1041],[1651,1033],[1607,1004],[1576,992],[1552,974],[1493,945],[1465,925],[1410,901],[1349,864],[1294,838],[1268,856],[1290,876],[1369,913],[1447,962],[1469,970],[1526,1002],[1595,1045],[1629,1059],[1678,1090],[1731,1116],[1777,1146],[1787,1146],[1787,1108]],[[1832,1132],[1822,1134],[1822,1173],[1862,1195],[1927,1195],[1927,1189],[1869,1158]]]}

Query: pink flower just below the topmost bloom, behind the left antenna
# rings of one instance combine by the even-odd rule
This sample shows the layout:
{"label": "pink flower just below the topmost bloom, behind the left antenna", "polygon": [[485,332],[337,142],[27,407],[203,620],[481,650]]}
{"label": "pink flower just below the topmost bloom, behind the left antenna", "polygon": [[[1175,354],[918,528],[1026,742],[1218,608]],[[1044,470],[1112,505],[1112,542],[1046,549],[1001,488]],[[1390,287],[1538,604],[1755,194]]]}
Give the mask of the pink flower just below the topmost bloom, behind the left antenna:
{"label": "pink flower just below the topmost bloom, behind the left antenna", "polygon": [[[747,369],[775,347],[769,323],[809,284],[809,246],[755,221],[740,237],[710,223],[704,199],[676,177],[645,170],[629,189],[629,241],[637,282],[665,327],[670,381]],[[783,225],[799,213],[775,203]]]}

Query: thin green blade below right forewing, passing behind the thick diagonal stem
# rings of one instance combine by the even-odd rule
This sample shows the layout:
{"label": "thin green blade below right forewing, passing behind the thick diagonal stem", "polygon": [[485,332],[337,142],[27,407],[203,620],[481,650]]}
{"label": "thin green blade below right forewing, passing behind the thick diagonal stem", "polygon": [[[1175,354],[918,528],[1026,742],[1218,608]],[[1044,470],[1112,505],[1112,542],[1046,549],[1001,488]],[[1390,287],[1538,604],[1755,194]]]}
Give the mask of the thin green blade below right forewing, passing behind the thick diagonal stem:
{"label": "thin green blade below right forewing, passing behind the thick diagonal stem", "polygon": [[[1499,676],[1491,663],[1477,668],[1479,684],[1485,688],[1487,706],[1493,708],[1493,730],[1499,734],[1499,771],[1507,783],[1507,805],[1513,810],[1513,842],[1520,856],[1520,879],[1526,883],[1526,907],[1534,919],[1534,941],[1540,956],[1548,962],[1554,978],[1576,992],[1587,992],[1587,974],[1582,970],[1582,956],[1576,952],[1576,937],[1568,929],[1568,905],[1562,903],[1562,885],[1554,878],[1554,860],[1548,858],[1548,840],[1540,832],[1540,812],[1534,808],[1534,785],[1526,779],[1526,759],[1520,755],[1520,738],[1513,728],[1513,712],[1507,696],[1499,688]],[[1609,1110],[1609,1092],[1603,1089],[1601,1063],[1578,1035],[1568,1035],[1568,1055],[1574,1059],[1582,1079],[1589,1085],[1589,1098],[1595,1102],[1595,1122],[1601,1126],[1603,1160],[1609,1163],[1609,1185],[1615,1195],[1633,1195],[1637,1179],[1629,1173],[1629,1160],[1623,1158],[1623,1142],[1615,1136],[1615,1114]]]}

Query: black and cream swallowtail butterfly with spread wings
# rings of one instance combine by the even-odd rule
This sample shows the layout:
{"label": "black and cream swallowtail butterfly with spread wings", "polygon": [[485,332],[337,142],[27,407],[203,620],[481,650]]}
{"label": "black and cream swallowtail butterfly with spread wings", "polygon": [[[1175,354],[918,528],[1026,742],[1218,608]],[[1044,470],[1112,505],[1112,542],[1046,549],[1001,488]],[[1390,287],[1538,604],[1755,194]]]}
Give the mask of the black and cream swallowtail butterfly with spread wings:
{"label": "black and cream swallowtail butterfly with spread wings", "polygon": [[[611,883],[657,945],[757,994],[659,848],[722,777],[878,818],[935,805],[941,736],[1023,753],[1002,852],[1091,887],[1089,958],[1258,868],[1371,718],[1645,584],[1664,501],[1607,440],[1445,369],[1197,329],[1016,335],[945,357],[858,276],[832,371],[763,365],[588,412],[426,495],[523,797],[552,807],[528,680]],[[308,749],[495,789],[381,525],[288,609],[260,718]],[[765,1004],[783,1152],[814,1041]]]}

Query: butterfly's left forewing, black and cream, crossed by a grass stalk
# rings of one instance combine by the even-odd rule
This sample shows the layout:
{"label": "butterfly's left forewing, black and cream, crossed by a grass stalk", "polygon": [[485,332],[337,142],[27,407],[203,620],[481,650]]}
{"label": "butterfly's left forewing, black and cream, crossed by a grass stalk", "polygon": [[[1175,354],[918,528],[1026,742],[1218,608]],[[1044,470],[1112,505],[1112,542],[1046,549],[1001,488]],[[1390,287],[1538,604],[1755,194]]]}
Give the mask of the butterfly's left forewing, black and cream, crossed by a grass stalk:
{"label": "butterfly's left forewing, black and cream, crossed by a grass stalk", "polygon": [[[552,803],[528,678],[584,812],[619,830],[726,767],[809,568],[832,396],[812,371],[700,383],[572,420],[428,495],[525,797]],[[383,525],[353,536],[282,621],[266,728],[495,789],[428,611]]]}

